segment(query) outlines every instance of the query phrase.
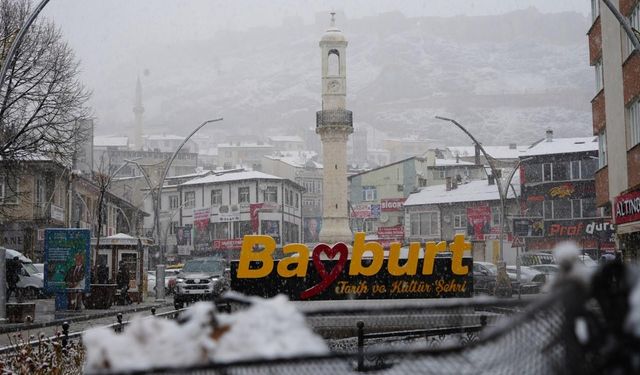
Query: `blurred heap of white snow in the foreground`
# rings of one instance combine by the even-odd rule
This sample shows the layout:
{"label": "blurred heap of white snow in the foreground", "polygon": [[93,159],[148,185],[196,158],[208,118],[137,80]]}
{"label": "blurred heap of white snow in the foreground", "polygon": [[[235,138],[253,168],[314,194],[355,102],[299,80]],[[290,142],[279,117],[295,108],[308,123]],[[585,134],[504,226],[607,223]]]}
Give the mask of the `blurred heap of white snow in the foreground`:
{"label": "blurred heap of white snow in the foreground", "polygon": [[200,302],[187,310],[184,324],[137,317],[122,334],[108,328],[89,330],[83,336],[85,369],[144,370],[328,353],[287,297],[251,302],[247,310],[232,315],[217,314],[213,304]]}

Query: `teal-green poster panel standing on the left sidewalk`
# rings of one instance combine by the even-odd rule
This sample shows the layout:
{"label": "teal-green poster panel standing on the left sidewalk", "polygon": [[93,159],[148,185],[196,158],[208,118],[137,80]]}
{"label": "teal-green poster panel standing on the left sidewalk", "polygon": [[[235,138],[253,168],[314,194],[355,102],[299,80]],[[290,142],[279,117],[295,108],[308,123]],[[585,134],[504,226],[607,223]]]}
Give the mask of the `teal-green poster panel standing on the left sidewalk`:
{"label": "teal-green poster panel standing on the left sidewalk", "polygon": [[48,292],[89,291],[89,229],[45,229],[44,288]]}

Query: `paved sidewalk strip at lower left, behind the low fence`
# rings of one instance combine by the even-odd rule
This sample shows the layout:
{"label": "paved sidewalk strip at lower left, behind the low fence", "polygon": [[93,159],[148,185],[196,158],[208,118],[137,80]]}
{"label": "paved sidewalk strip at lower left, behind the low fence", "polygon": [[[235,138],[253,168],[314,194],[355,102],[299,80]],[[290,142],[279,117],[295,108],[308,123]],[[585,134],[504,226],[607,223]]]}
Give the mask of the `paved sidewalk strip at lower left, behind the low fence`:
{"label": "paved sidewalk strip at lower left, behind the low fence", "polygon": [[173,297],[167,296],[165,302],[156,302],[155,298],[150,296],[141,303],[132,303],[131,305],[113,305],[109,309],[83,309],[80,311],[55,311],[55,299],[37,299],[33,300],[36,304],[36,316],[32,323],[0,323],[0,334],[22,331],[25,329],[40,329],[44,327],[59,326],[63,322],[80,322],[92,319],[98,319],[106,316],[115,316],[118,313],[131,314],[139,311],[147,311],[152,308],[161,309],[173,307]]}

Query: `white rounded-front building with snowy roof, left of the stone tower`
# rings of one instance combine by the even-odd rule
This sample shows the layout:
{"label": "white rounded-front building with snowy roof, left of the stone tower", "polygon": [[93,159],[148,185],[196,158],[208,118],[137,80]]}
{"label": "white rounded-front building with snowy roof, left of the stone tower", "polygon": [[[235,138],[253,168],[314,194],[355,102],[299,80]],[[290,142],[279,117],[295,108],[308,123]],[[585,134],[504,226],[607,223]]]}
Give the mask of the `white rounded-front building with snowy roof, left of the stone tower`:
{"label": "white rounded-front building with snowy roof, left of the stone tower", "polygon": [[[242,238],[260,233],[279,248],[302,239],[302,186],[258,171],[213,173],[176,186],[181,255],[239,255]],[[183,246],[192,251],[187,251]],[[190,253],[190,254],[188,254]]]}

